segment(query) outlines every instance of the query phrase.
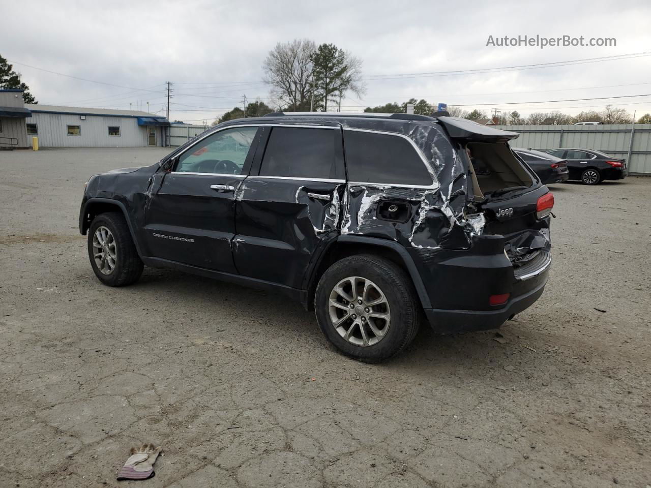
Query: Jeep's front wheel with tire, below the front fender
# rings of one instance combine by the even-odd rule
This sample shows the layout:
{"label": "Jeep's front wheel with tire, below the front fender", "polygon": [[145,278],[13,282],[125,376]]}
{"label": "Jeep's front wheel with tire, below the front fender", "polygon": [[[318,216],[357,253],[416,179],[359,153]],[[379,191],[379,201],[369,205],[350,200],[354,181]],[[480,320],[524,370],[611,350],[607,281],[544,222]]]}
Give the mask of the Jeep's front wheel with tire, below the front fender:
{"label": "Jeep's front wheel with tire, below the front fender", "polygon": [[88,230],[88,254],[95,276],[108,286],[136,282],[145,265],[120,212],[100,213]]}

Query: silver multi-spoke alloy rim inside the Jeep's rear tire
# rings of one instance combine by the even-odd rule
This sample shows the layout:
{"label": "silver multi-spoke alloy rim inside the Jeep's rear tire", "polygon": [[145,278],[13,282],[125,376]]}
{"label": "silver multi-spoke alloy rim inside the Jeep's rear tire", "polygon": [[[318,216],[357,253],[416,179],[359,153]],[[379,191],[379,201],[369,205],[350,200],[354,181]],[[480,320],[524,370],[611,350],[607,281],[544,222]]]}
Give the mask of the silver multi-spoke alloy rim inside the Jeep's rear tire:
{"label": "silver multi-spoke alloy rim inside the Jeep's rear tire", "polygon": [[391,325],[391,308],[383,291],[363,277],[340,280],[330,292],[328,312],[339,335],[355,346],[378,344]]}

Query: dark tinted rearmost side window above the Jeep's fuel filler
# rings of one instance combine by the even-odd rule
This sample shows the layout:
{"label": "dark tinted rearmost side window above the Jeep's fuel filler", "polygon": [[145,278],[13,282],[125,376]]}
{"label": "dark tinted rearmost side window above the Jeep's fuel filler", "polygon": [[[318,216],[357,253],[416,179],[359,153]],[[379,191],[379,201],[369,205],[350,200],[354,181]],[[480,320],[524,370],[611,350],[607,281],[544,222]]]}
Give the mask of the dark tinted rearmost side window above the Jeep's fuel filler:
{"label": "dark tinted rearmost side window above the Jeep's fuel filler", "polygon": [[351,182],[432,184],[432,176],[421,156],[402,137],[344,130],[344,151]]}

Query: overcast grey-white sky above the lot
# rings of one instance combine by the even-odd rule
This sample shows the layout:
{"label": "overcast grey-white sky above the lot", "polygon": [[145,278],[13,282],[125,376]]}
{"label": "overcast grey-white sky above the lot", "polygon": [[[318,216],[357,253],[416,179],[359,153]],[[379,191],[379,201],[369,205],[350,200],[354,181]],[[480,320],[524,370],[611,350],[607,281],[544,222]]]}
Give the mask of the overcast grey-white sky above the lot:
{"label": "overcast grey-white sky above the lot", "polygon": [[[363,61],[366,92],[348,94],[346,112],[411,97],[524,116],[608,104],[651,112],[648,0],[33,1],[29,10],[0,0],[0,12],[0,55],[49,105],[165,115],[171,81],[171,120],[210,124],[244,95],[271,103],[264,59],[278,42],[308,38]],[[487,46],[525,35],[616,46]],[[593,61],[530,66],[577,60]],[[585,98],[602,99],[576,100]],[[543,103],[552,100],[568,101]]]}

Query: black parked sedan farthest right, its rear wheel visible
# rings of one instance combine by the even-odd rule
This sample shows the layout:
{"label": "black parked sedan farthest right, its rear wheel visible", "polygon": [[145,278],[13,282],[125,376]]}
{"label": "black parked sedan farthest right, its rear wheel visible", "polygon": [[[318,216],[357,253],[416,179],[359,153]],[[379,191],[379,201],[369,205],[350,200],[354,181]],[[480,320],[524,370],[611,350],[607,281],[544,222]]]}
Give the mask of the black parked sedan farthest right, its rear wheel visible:
{"label": "black parked sedan farthest right, its rear wheel visible", "polygon": [[551,156],[567,162],[570,180],[584,185],[596,185],[603,180],[623,180],[628,174],[626,159],[618,159],[592,149],[554,149]]}

